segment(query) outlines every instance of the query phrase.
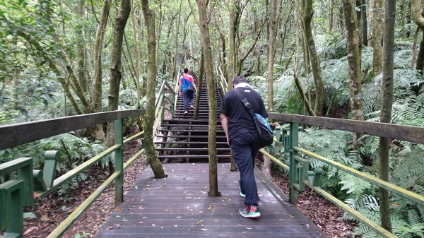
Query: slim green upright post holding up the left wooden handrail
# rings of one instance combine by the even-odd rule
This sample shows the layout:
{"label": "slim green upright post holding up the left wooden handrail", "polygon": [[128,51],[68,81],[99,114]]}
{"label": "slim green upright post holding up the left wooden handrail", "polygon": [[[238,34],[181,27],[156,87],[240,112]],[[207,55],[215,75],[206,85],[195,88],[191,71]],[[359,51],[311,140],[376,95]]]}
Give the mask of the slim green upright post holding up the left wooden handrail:
{"label": "slim green upright post holding up the left wooden handrail", "polygon": [[114,152],[115,172],[120,172],[115,180],[115,206],[124,201],[124,138],[122,133],[122,119],[114,121],[114,143],[121,145]]}

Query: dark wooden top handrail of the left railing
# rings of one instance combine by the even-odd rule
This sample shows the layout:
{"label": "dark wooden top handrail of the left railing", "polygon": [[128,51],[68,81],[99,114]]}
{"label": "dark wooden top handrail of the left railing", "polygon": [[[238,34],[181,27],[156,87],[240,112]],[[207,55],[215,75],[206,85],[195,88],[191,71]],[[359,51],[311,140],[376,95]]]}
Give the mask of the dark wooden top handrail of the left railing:
{"label": "dark wooden top handrail of the left railing", "polygon": [[141,116],[144,112],[142,109],[100,112],[0,126],[0,150],[107,121]]}

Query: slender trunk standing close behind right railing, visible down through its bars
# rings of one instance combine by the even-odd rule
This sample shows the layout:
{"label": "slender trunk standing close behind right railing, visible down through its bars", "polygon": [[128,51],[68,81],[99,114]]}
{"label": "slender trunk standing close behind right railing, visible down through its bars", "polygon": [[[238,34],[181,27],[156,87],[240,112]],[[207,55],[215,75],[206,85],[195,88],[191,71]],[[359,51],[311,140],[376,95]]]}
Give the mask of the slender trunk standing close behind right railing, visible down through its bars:
{"label": "slender trunk standing close behind right railing, visible down through its bars", "polygon": [[[380,122],[390,123],[393,104],[394,25],[396,0],[386,0],[384,9],[384,46],[382,76],[382,107]],[[379,138],[379,179],[389,182],[389,138]],[[389,191],[379,188],[379,210],[382,227],[391,232]]]}

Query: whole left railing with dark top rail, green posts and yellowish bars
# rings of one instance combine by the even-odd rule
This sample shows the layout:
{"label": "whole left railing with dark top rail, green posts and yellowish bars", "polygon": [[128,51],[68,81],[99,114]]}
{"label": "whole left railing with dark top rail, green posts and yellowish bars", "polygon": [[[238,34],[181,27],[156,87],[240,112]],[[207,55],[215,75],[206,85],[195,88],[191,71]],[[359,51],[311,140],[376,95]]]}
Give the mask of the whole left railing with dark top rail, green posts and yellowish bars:
{"label": "whole left railing with dark top rail, green posts and yellowish bars", "polygon": [[[33,170],[33,158],[23,157],[0,165],[0,176],[17,172],[18,177],[0,184],[0,231],[4,231],[4,237],[23,237],[23,207],[31,206],[40,201],[48,194],[57,190],[61,185],[68,182],[79,173],[85,171],[102,157],[114,153],[114,173],[103,184],[83,201],[76,210],[71,213],[48,237],[61,237],[64,232],[78,219],[93,201],[104,191],[107,186],[114,182],[115,204],[122,203],[123,198],[123,171],[131,162],[134,162],[143,153],[140,150],[124,164],[124,143],[132,141],[143,135],[137,133],[131,138],[123,140],[122,120],[128,117],[140,117],[144,110],[128,110],[116,112],[104,112],[95,114],[83,114],[74,117],[63,117],[43,121],[33,121],[23,124],[0,126],[0,149],[11,148],[31,141],[37,141],[60,133],[75,131],[108,121],[114,121],[115,135],[114,145],[99,155],[90,158],[78,167],[71,169],[66,174],[54,179],[57,161],[61,155],[57,151],[45,153],[45,165],[43,170]],[[49,128],[50,130],[46,130]]]}

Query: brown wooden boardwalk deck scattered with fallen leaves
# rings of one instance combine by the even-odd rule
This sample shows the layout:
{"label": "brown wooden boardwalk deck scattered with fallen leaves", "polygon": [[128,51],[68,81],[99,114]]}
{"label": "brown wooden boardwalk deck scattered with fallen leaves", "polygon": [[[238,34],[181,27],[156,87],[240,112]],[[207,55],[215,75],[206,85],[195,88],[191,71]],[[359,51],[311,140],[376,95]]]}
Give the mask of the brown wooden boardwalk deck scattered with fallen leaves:
{"label": "brown wooden boardwalk deck scattered with fallen leaves", "polygon": [[141,174],[124,203],[96,235],[105,237],[325,237],[288,198],[256,169],[261,217],[243,218],[238,172],[218,164],[220,197],[208,196],[208,164],[163,165],[166,179]]}

